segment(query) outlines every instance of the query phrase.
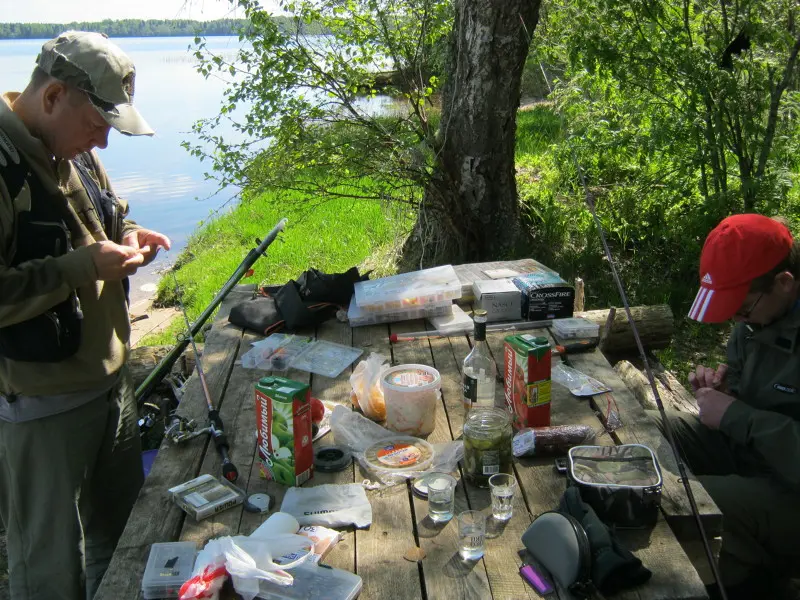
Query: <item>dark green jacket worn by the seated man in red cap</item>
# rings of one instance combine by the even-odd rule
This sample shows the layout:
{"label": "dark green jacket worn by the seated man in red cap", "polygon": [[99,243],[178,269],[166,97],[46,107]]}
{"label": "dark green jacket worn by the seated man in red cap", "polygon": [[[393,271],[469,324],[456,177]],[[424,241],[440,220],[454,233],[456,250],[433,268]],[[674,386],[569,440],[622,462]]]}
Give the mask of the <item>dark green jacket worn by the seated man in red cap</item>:
{"label": "dark green jacket worn by the seated man in red cap", "polygon": [[738,400],[725,411],[720,431],[800,491],[800,309],[763,328],[737,324],[726,382]]}

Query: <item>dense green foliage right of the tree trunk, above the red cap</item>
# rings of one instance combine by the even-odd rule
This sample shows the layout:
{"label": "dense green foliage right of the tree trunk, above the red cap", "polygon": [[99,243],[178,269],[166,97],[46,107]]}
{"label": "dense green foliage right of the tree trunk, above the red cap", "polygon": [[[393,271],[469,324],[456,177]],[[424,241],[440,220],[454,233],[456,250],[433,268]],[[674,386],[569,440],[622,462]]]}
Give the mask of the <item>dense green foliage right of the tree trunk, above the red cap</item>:
{"label": "dense green foliage right of the tree trunk, above the red cap", "polygon": [[[599,275],[580,164],[632,299],[684,314],[723,217],[797,214],[795,11],[781,0],[551,3],[529,70],[557,73],[562,133],[535,157],[540,181],[520,187],[534,251],[588,276],[595,301],[619,303]],[[749,48],[726,52],[742,32]]]}

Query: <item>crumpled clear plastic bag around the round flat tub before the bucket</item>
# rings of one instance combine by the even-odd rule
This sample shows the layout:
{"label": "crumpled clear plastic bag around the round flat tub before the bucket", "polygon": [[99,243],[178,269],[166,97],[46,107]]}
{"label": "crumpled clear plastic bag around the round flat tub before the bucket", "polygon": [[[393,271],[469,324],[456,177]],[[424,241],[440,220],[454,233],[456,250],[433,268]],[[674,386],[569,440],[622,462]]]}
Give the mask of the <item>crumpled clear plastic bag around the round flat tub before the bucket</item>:
{"label": "crumpled clear plastic bag around the round flat tub before the bucket", "polygon": [[458,462],[464,458],[464,442],[445,442],[433,444],[433,462],[425,471],[377,471],[367,465],[364,453],[370,446],[388,438],[397,437],[397,433],[373,423],[364,415],[338,405],[331,414],[331,431],[337,446],[347,448],[358,460],[361,468],[372,475],[384,486],[397,485],[406,479],[419,477],[423,473],[439,471],[452,473],[458,469]]}

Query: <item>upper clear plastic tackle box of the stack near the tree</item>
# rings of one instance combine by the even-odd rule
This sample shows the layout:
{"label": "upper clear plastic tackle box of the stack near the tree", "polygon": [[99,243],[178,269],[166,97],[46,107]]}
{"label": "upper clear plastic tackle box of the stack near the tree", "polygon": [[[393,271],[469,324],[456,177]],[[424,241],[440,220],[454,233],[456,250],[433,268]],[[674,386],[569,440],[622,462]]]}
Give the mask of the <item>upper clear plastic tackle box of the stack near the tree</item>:
{"label": "upper clear plastic tackle box of the stack near the tree", "polygon": [[461,297],[452,265],[401,273],[355,284],[356,304],[368,312],[405,311]]}

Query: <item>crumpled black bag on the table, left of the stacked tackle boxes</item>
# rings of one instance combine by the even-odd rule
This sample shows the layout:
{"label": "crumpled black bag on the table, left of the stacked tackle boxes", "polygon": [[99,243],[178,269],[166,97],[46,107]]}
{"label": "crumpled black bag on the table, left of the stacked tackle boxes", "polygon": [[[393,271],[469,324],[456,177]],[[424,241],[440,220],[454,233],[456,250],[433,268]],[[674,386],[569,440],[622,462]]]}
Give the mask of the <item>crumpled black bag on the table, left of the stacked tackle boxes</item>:
{"label": "crumpled black bag on the table, left of the stacked tackle boxes", "polygon": [[330,275],[309,269],[296,281],[264,287],[259,296],[232,306],[228,320],[262,335],[313,327],[344,310],[353,286],[368,276],[360,275],[356,267]]}

